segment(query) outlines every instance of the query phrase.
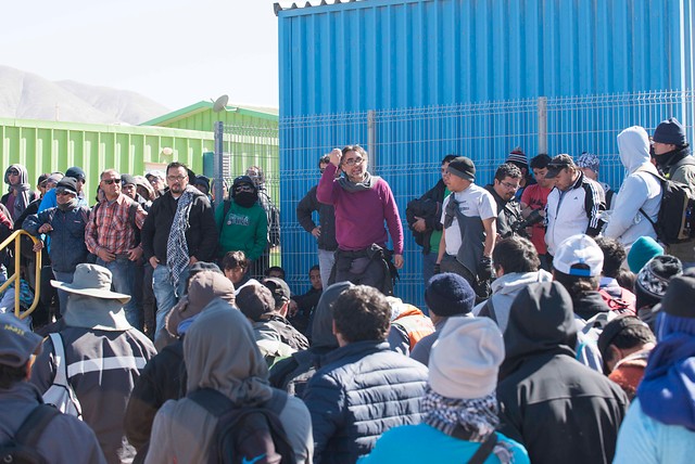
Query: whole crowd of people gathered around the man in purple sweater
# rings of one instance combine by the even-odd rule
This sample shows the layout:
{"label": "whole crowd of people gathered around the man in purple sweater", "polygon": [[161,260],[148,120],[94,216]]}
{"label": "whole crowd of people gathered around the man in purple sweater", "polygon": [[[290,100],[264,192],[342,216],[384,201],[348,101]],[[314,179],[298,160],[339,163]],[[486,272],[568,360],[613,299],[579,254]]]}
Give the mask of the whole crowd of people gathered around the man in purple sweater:
{"label": "whole crowd of people gathered around the man in purple sweater", "polygon": [[50,284],[27,320],[5,304],[17,289],[0,302],[0,457],[687,462],[695,239],[661,222],[695,162],[673,118],[617,143],[617,191],[590,153],[516,147],[484,186],[445,156],[406,208],[422,308],[395,296],[404,229],[359,145],[323,156],[296,205],[318,249],[302,295],[267,260],[279,225],[257,167],[215,207],[180,163],[106,169],[89,208],[80,168],[34,193],[12,165],[0,235],[38,240],[22,294],[34,253]]}

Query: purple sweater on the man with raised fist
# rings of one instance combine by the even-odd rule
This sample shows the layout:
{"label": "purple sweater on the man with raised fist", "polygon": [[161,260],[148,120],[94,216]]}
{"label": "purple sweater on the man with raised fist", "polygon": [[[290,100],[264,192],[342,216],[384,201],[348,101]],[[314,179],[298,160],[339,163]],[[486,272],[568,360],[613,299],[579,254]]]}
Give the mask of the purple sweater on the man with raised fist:
{"label": "purple sweater on the man with raised fist", "polygon": [[403,225],[391,188],[379,179],[362,192],[345,192],[336,180],[336,166],[329,164],[318,182],[316,197],[336,208],[336,240],[340,249],[355,252],[372,243],[383,246],[389,240],[386,219],[393,241],[393,252],[403,255]]}

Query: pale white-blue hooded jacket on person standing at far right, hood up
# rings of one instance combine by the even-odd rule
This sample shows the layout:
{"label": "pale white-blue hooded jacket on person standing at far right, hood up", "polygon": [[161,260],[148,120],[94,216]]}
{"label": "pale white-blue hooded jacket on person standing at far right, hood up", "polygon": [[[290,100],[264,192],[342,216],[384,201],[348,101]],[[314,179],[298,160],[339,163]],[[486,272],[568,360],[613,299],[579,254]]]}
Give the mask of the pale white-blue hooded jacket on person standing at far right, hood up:
{"label": "pale white-blue hooded jacket on person standing at far right, hood up", "polygon": [[628,169],[614,202],[605,236],[612,237],[630,248],[641,236],[656,239],[654,227],[640,211],[657,220],[661,204],[661,183],[654,176],[656,167],[649,162],[649,139],[640,126],[629,127],[618,134],[620,160]]}

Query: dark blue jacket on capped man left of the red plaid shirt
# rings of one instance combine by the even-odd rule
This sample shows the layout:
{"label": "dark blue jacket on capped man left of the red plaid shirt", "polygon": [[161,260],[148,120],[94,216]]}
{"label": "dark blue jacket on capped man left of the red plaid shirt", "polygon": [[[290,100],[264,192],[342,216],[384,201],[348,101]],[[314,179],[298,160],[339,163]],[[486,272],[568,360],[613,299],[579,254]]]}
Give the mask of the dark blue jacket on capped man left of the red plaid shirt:
{"label": "dark blue jacket on capped man left of the red plaid shirt", "polygon": [[22,229],[34,236],[39,235],[39,228],[49,223],[53,228],[49,256],[51,267],[58,272],[75,272],[75,267],[86,262],[89,252],[85,243],[85,228],[89,220],[89,209],[84,206],[70,211],[61,211],[58,207],[45,209],[38,215],[29,215]]}

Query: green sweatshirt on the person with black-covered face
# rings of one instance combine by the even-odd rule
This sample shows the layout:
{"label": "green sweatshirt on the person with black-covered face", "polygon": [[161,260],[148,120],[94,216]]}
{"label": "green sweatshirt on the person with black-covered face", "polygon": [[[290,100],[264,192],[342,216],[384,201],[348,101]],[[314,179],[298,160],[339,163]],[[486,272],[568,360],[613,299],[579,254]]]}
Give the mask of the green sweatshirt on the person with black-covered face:
{"label": "green sweatshirt on the person with black-covered face", "polygon": [[215,222],[219,231],[219,250],[241,250],[250,260],[257,259],[268,244],[268,219],[257,203],[250,208],[237,205],[233,201],[225,214],[225,202],[215,209]]}

